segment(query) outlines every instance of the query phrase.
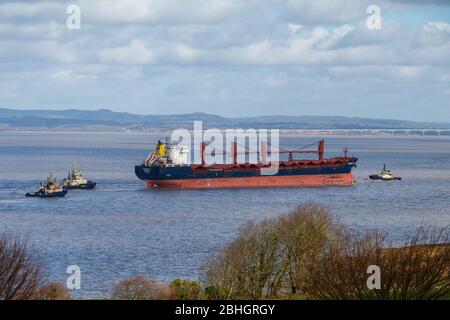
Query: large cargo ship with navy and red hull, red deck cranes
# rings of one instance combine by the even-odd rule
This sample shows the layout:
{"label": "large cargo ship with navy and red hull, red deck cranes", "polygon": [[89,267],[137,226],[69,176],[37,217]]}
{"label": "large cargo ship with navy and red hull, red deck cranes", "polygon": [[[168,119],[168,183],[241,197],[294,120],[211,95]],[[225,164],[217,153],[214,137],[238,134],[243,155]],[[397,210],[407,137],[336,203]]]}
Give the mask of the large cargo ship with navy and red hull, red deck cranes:
{"label": "large cargo ship with navy and red hull, red deck cranes", "polygon": [[[135,166],[135,173],[147,183],[148,188],[320,187],[351,186],[355,183],[351,171],[358,159],[348,157],[347,149],[342,156],[325,159],[324,140],[314,150],[279,150],[277,153],[288,154],[288,160],[276,163],[267,162],[267,154],[273,152],[267,152],[267,144],[264,149],[266,151],[262,152],[258,163],[238,163],[237,145],[233,142],[231,163],[207,165],[205,143],[201,143],[201,163],[190,164],[187,147],[159,141],[155,151],[141,165]],[[317,154],[317,159],[294,159],[294,154],[299,153]],[[277,168],[274,174],[264,173],[274,165]]]}

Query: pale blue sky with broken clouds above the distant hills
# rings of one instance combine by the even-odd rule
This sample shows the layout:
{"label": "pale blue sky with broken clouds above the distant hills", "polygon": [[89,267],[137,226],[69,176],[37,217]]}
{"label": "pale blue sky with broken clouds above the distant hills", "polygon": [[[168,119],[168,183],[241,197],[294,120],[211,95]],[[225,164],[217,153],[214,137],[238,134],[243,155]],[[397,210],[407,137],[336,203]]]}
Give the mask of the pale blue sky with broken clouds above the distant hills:
{"label": "pale blue sky with broken clouds above the distant hills", "polygon": [[450,0],[0,1],[0,107],[450,122]]}

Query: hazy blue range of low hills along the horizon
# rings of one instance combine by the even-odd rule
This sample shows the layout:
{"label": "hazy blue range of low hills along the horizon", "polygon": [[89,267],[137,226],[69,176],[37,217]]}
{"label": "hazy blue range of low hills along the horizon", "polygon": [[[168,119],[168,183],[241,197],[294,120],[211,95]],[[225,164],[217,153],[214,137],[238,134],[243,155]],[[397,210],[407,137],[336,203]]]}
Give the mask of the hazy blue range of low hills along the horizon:
{"label": "hazy blue range of low hills along the horizon", "polygon": [[369,119],[334,116],[260,116],[228,118],[207,113],[177,115],[137,115],[107,109],[87,110],[14,110],[0,108],[0,127],[104,130],[192,128],[194,120],[204,128],[278,128],[293,129],[450,129],[450,123],[414,122],[393,119]]}

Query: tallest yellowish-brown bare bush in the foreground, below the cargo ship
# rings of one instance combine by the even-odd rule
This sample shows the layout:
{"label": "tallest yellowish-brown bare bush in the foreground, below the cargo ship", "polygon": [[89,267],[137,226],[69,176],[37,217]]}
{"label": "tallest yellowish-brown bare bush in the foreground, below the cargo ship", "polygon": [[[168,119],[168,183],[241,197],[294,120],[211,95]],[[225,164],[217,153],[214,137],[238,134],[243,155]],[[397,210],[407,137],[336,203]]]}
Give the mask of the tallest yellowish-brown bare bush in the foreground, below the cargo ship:
{"label": "tallest yellowish-brown bare bush in the foreground, below the cargo ship", "polygon": [[307,267],[339,228],[325,208],[299,206],[278,219],[242,228],[236,240],[204,264],[201,281],[209,299],[261,299],[306,281]]}

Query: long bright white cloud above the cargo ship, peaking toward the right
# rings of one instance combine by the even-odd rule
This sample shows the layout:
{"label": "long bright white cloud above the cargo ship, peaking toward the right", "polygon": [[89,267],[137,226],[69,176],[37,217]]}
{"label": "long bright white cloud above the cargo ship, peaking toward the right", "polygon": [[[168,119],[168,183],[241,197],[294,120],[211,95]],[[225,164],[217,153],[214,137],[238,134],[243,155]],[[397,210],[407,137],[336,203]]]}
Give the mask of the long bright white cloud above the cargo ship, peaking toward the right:
{"label": "long bright white cloud above the cargo ship, peaking toward the right", "polygon": [[357,66],[405,62],[395,48],[384,44],[339,46],[340,41],[354,30],[353,26],[343,25],[330,32],[319,26],[284,40],[271,39],[241,47],[211,50],[202,56],[216,63],[262,66]]}

